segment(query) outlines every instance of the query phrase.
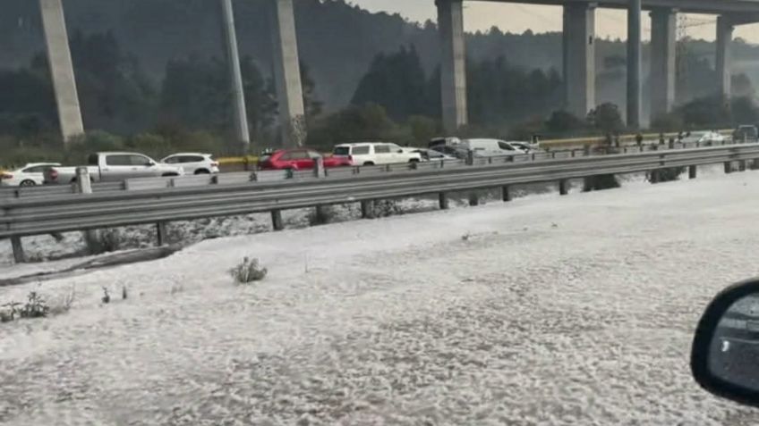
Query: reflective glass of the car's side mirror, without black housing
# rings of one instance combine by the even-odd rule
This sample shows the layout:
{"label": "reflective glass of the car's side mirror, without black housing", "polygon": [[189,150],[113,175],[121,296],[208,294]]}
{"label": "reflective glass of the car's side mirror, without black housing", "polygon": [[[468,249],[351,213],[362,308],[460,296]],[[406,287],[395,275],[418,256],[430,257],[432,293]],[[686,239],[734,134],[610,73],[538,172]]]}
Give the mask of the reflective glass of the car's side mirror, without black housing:
{"label": "reflective glass of the car's side mirror, without black housing", "polygon": [[712,376],[759,391],[759,293],[738,299],[714,330],[708,357]]}

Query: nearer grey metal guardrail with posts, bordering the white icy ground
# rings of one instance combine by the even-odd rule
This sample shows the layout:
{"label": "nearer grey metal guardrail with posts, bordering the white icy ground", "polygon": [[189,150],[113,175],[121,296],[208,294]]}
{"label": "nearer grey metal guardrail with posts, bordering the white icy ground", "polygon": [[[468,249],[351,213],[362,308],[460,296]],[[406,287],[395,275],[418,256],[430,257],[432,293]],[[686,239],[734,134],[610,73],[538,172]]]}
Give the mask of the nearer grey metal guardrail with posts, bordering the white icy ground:
{"label": "nearer grey metal guardrail with posts, bordering the white icy ground", "polygon": [[667,150],[627,155],[600,155],[539,163],[485,163],[456,168],[410,169],[405,173],[360,173],[311,180],[246,181],[201,187],[150,188],[0,200],[0,238],[11,238],[16,261],[24,260],[21,237],[74,230],[158,224],[165,241],[165,223],[205,217],[271,212],[275,230],[282,229],[281,211],[345,203],[362,203],[371,217],[372,202],[383,198],[439,195],[448,208],[448,193],[503,188],[504,200],[515,184],[559,181],[599,174],[653,171],[667,167],[732,162],[746,169],[759,159],[759,144]]}

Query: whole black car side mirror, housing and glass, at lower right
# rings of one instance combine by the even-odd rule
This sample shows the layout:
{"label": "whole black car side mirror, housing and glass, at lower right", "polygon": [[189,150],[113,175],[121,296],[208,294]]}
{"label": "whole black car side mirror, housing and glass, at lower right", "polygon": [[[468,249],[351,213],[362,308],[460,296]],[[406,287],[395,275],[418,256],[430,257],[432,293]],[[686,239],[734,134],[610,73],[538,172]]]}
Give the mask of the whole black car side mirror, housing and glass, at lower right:
{"label": "whole black car side mirror, housing and glass, at lower right", "polygon": [[726,288],[706,308],[691,372],[712,394],[759,407],[759,279]]}

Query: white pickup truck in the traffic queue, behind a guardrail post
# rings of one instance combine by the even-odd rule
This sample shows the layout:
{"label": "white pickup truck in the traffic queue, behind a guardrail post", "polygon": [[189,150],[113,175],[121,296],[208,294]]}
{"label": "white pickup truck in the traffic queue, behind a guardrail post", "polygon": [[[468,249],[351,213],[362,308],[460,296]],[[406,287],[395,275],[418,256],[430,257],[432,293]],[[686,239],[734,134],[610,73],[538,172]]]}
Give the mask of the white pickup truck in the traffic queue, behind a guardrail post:
{"label": "white pickup truck in the traffic queue, behind a guardrail post", "polygon": [[[132,178],[183,176],[181,166],[158,163],[147,155],[136,153],[98,153],[87,159],[90,180],[93,182],[120,181]],[[76,181],[76,167],[51,167],[45,171],[45,183]]]}

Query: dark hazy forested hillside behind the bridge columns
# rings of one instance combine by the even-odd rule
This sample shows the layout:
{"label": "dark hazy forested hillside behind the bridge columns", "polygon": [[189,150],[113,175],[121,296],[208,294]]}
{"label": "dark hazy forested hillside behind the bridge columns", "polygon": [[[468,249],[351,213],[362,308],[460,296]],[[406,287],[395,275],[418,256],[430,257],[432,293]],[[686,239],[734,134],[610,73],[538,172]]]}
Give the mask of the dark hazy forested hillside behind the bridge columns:
{"label": "dark hazy forested hillside behind the bridge columns", "polygon": [[[37,2],[6,0],[0,16],[0,163],[79,155],[62,151]],[[231,102],[218,3],[209,0],[70,0],[70,45],[85,128],[81,150],[131,147],[231,154]],[[269,2],[236,2],[252,150],[277,145]],[[311,146],[362,138],[423,143],[439,135],[436,25],[368,13],[343,0],[296,4]],[[461,135],[526,138],[603,131],[593,116],[561,111],[560,33],[467,35],[471,124]],[[730,103],[713,96],[714,46],[678,42],[678,108],[652,129],[759,121],[751,63],[759,47],[736,40]],[[644,67],[648,45],[644,46]],[[624,117],[625,43],[597,42],[597,102]],[[647,104],[644,84],[644,105]],[[618,106],[616,106],[618,105]],[[592,112],[597,113],[597,112]],[[646,114],[647,115],[647,114]],[[74,144],[76,146],[77,144]]]}

